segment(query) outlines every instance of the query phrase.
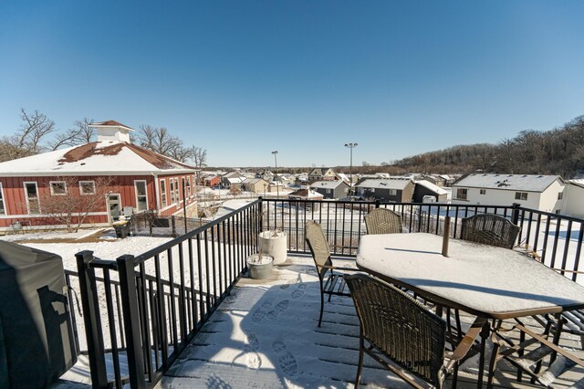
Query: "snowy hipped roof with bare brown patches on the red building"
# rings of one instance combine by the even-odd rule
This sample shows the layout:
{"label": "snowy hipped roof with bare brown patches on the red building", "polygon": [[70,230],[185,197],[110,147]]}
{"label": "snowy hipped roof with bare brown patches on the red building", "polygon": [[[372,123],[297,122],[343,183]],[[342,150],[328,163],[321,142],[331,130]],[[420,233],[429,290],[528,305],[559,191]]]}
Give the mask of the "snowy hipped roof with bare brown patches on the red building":
{"label": "snowy hipped roof with bare brown patches on the red building", "polygon": [[127,142],[90,142],[0,163],[0,175],[193,173],[195,168]]}

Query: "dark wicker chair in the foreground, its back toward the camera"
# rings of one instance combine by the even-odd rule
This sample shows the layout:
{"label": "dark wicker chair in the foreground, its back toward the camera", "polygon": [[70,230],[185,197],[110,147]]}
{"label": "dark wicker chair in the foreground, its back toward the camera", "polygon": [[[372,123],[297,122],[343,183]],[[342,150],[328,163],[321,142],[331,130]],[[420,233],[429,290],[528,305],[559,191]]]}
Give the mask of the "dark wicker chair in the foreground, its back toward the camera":
{"label": "dark wicker chair in the foreground, its back toward the camera", "polygon": [[454,357],[458,352],[445,355],[446,323],[443,319],[380,279],[355,274],[346,275],[345,280],[360,320],[355,388],[360,384],[363,352],[413,387],[422,385],[403,371],[427,384],[442,387],[446,373],[456,368],[460,359]]}

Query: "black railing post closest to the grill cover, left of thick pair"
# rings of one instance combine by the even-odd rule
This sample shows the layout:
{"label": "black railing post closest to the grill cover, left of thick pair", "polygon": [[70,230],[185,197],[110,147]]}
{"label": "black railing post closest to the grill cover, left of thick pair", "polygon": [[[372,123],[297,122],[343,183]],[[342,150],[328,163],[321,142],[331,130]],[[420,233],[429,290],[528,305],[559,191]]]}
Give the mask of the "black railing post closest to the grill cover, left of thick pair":
{"label": "black railing post closest to the grill cover, left of thick pair", "polygon": [[85,336],[88,341],[91,385],[94,388],[107,388],[108,374],[103,347],[103,334],[101,332],[101,320],[99,318],[97,283],[95,280],[95,270],[89,268],[89,262],[93,259],[93,251],[80,251],[75,255],[75,258],[77,259]]}

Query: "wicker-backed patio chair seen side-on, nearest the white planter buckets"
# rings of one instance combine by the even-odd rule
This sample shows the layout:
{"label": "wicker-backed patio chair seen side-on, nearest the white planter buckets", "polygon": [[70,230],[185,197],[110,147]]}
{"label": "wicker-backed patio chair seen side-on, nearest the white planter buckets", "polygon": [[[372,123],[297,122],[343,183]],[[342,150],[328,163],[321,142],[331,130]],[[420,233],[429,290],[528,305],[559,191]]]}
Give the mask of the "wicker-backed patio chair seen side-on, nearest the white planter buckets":
{"label": "wicker-backed patio chair seen side-on, nearest the white planter buckets", "polygon": [[[341,274],[333,270],[351,270],[357,271],[356,268],[340,268],[332,265],[330,258],[330,248],[328,247],[327,237],[322,231],[322,227],[315,221],[309,220],[305,227],[305,237],[317,267],[318,280],[320,281],[320,317],[318,318],[318,327],[322,323],[322,314],[324,311],[325,298],[328,294],[328,301],[332,295],[350,296],[349,289],[346,288],[345,280]],[[327,274],[328,273],[328,274]]]}

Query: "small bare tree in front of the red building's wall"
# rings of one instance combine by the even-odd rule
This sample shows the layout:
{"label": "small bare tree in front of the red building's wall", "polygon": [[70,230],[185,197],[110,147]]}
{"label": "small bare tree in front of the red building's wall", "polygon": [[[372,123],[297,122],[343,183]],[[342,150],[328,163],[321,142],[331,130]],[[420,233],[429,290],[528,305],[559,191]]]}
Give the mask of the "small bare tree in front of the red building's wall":
{"label": "small bare tree in front of the red building's wall", "polygon": [[105,206],[113,177],[97,177],[93,184],[79,185],[77,177],[56,177],[53,186],[39,197],[44,215],[52,217],[57,224],[67,227],[67,232],[77,232],[91,212]]}

